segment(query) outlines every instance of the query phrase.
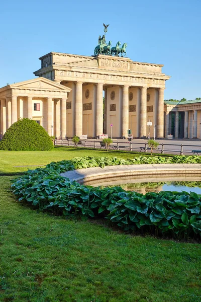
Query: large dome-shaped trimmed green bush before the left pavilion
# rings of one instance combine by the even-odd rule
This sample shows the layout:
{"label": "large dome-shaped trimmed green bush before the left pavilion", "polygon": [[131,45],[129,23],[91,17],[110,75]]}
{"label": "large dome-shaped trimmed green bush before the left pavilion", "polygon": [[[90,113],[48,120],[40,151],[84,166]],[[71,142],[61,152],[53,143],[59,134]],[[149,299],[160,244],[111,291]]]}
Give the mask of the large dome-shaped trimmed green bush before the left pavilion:
{"label": "large dome-shaped trimmed green bush before the left pavilion", "polygon": [[54,147],[53,141],[36,121],[22,118],[15,122],[0,141],[1,150],[48,151]]}

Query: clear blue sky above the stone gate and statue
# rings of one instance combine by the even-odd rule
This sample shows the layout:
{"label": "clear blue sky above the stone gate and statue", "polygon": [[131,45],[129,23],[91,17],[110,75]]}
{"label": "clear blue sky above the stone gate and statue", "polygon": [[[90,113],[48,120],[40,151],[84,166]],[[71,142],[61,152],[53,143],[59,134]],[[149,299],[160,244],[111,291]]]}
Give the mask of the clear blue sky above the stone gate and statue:
{"label": "clear blue sky above the stone gate and statue", "polygon": [[4,1],[0,87],[33,79],[50,51],[92,55],[105,23],[132,60],[164,64],[165,99],[201,97],[200,12],[200,0]]}

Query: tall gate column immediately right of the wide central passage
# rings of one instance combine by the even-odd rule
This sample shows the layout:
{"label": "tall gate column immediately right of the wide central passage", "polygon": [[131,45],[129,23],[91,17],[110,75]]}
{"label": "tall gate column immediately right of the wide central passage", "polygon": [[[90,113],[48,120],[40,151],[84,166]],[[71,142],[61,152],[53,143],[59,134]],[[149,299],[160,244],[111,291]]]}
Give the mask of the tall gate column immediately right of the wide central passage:
{"label": "tall gate column immediately right of the wide central passage", "polygon": [[129,86],[123,87],[122,98],[122,137],[128,137],[129,129]]}

